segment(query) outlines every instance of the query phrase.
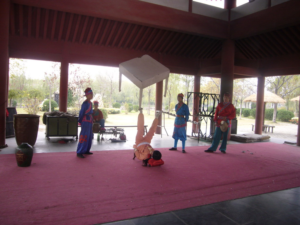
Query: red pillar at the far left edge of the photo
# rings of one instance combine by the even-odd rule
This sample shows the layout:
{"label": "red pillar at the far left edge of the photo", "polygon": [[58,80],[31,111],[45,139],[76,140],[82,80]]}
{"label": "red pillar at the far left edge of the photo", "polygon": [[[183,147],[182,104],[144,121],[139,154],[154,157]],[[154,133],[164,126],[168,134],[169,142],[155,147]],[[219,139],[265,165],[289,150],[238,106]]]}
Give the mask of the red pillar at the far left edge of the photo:
{"label": "red pillar at the far left edge of the photo", "polygon": [[9,0],[0,1],[0,146],[5,145],[7,82],[8,82],[8,35]]}

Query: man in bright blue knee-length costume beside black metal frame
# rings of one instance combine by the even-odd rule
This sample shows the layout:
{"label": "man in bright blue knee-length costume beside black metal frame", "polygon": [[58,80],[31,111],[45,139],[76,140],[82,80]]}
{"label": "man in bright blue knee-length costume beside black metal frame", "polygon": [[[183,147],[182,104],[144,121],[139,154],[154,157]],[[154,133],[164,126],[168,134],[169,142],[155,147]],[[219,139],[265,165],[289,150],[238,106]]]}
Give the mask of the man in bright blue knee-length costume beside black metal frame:
{"label": "man in bright blue knee-length costume beside black metal frame", "polygon": [[187,133],[185,127],[187,125],[187,121],[189,119],[190,110],[186,104],[183,102],[183,94],[180,93],[177,95],[178,104],[175,106],[176,111],[176,118],[174,123],[174,132],[173,138],[174,140],[174,147],[169,150],[177,150],[177,143],[178,140],[182,141],[182,153],[185,153],[185,141],[187,140]]}

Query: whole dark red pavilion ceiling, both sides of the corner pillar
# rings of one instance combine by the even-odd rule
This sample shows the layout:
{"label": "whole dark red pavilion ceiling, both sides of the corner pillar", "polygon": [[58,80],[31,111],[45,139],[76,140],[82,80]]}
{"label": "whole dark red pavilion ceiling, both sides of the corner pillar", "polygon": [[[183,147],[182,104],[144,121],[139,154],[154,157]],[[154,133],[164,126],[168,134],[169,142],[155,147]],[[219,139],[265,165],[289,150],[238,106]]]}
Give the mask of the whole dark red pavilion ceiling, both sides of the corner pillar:
{"label": "whole dark red pavilion ceiling, both sides of the corner pillar", "polygon": [[[124,19],[125,14],[120,15],[118,19],[118,13],[113,9],[110,11],[111,14],[115,13],[112,16],[107,16],[105,12],[95,16],[97,13],[89,13],[91,9],[82,10],[80,13],[80,7],[77,6],[67,11],[65,5],[60,6],[59,3],[51,1],[49,4],[52,5],[48,8],[48,1],[37,1],[36,5],[36,1],[33,0],[28,0],[29,5],[26,5],[26,0],[14,2],[10,6],[9,29],[10,52],[13,57],[22,58],[23,52],[26,52],[27,58],[39,59],[40,55],[44,54],[49,57],[46,60],[55,61],[57,58],[51,57],[62,54],[63,46],[67,45],[73,48],[69,53],[77,54],[77,58],[72,58],[74,63],[91,62],[118,66],[122,61],[148,54],[160,59],[173,73],[215,77],[220,75],[222,41],[226,38],[226,29],[220,28],[226,27],[224,21],[164,7],[167,13],[177,13],[176,16],[181,19],[175,21],[176,17],[172,17],[171,21],[175,21],[173,24],[167,22],[158,26],[160,22],[166,21],[166,16],[162,17],[161,21],[153,22],[152,18],[151,22],[146,24],[140,11],[131,12],[130,19]],[[110,1],[103,2],[108,4],[107,9],[113,7]],[[161,6],[155,4],[142,1],[132,3],[153,6],[149,12],[161,10]],[[45,8],[39,7],[39,4]],[[284,4],[299,5],[294,0]],[[289,13],[289,7],[281,10],[279,6],[230,23],[231,36],[235,40],[236,78],[257,76],[258,73],[264,75],[259,70],[266,70],[265,75],[270,76],[277,75],[274,68],[280,71],[279,74],[293,74],[300,69],[300,17],[294,16],[294,13],[298,12],[296,9]],[[58,10],[59,8],[62,10]],[[268,10],[271,11],[268,13]],[[280,15],[274,16],[274,13],[279,12]],[[267,18],[269,14],[271,16]],[[191,28],[185,29],[184,24],[176,26],[184,17],[187,17],[186,26],[191,24]],[[136,22],[133,22],[132,18],[136,18]],[[259,18],[256,23],[250,23]],[[284,18],[287,18],[286,23]],[[208,24],[203,21],[207,21]],[[237,32],[237,29],[241,30],[241,33]],[[42,51],[44,52],[41,53]],[[111,54],[111,57],[105,54]],[[43,57],[41,59],[45,60]]]}

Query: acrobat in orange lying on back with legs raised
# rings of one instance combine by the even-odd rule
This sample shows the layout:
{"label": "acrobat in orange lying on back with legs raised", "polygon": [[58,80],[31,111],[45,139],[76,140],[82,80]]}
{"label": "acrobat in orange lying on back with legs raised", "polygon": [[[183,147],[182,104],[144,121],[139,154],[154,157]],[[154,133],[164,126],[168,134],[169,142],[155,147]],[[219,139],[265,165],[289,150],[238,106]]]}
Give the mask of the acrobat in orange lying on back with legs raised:
{"label": "acrobat in orange lying on back with legs raised", "polygon": [[161,160],[161,153],[157,150],[154,150],[150,143],[154,136],[154,132],[158,125],[158,117],[161,115],[163,111],[159,111],[155,114],[155,119],[149,129],[148,133],[143,136],[144,134],[144,114],[143,109],[139,109],[140,114],[137,119],[137,136],[135,138],[135,145],[134,148],[134,158],[137,157],[139,160],[143,160],[143,166],[147,166],[149,160],[153,157],[154,160],[160,161],[161,165],[164,161]]}

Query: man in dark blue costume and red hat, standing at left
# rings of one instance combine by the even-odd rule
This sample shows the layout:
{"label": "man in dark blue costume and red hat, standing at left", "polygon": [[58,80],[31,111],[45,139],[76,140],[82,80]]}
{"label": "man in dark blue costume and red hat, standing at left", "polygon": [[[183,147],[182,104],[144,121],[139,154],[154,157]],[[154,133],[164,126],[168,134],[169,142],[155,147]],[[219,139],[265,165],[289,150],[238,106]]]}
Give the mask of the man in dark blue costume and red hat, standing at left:
{"label": "man in dark blue costume and red hat, standing at left", "polygon": [[91,88],[86,88],[84,91],[86,100],[82,103],[79,112],[78,124],[81,124],[81,131],[77,146],[77,157],[84,158],[82,154],[91,155],[90,152],[93,138],[93,107],[91,99],[93,98],[93,91]]}

